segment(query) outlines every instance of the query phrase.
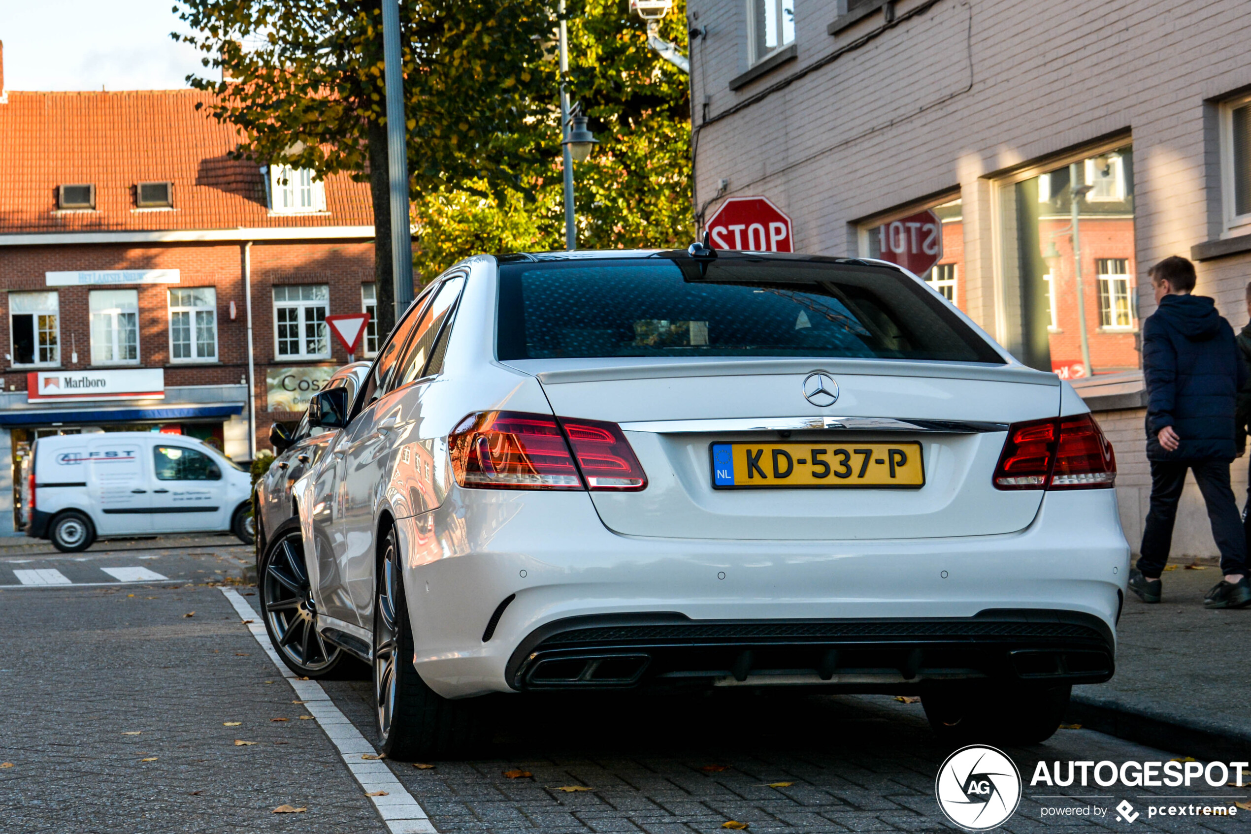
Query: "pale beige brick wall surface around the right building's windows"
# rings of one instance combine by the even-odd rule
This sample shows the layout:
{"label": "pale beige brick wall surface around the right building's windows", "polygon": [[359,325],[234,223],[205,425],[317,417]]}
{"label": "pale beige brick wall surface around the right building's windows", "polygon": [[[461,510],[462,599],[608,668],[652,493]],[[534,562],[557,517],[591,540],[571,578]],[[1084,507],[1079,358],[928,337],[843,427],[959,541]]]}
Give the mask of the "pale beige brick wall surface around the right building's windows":
{"label": "pale beige brick wall surface around the right building's windows", "polygon": [[[899,0],[903,18],[927,0]],[[869,15],[837,38],[826,34],[833,0],[794,0],[798,59],[732,91],[747,69],[744,0],[689,0],[707,36],[692,45],[697,204],[716,194],[764,195],[789,213],[797,248],[854,254],[857,219],[960,188],[965,203],[970,314],[991,333],[997,318],[992,176],[1097,138],[1132,134],[1136,261],[1221,233],[1213,99],[1251,85],[1251,15],[1238,0],[1172,4],[1110,0],[1047,4],[937,0],[871,36],[859,49],[771,85],[871,35]],[[732,108],[743,109],[727,114]],[[712,121],[708,121],[712,120]],[[707,121],[707,124],[706,124]],[[716,208],[712,201],[709,211]],[[1235,328],[1246,323],[1242,288],[1251,255],[1198,265],[1198,293],[1212,295]],[[1145,275],[1138,276],[1146,290]],[[1150,291],[1141,315],[1153,310]],[[1098,415],[1121,466],[1121,518],[1137,550],[1150,494],[1142,411]],[[1246,489],[1246,459],[1233,465]],[[1202,501],[1183,498],[1175,551],[1211,555]]]}

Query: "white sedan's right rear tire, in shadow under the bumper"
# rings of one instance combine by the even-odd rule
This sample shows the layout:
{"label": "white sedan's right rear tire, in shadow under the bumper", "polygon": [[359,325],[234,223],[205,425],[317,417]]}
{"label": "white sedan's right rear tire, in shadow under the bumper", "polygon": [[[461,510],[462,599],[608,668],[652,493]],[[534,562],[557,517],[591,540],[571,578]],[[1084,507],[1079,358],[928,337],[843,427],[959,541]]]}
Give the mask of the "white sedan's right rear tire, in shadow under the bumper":
{"label": "white sedan's right rear tire, in shadow under the bumper", "polygon": [[933,684],[921,690],[921,705],[943,741],[1040,744],[1060,729],[1071,694],[1067,684]]}

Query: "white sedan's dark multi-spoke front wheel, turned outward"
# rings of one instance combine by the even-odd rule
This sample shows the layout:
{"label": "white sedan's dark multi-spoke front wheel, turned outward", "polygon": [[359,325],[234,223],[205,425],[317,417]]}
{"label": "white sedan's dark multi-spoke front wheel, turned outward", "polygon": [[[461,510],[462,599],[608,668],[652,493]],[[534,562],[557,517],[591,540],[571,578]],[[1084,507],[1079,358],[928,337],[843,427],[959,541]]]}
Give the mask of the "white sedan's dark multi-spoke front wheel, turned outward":
{"label": "white sedan's dark multi-spoke front wheel, turned outward", "polygon": [[317,673],[339,659],[340,649],[317,631],[317,604],[298,530],[274,543],[261,580],[261,604],[276,648],[289,661]]}

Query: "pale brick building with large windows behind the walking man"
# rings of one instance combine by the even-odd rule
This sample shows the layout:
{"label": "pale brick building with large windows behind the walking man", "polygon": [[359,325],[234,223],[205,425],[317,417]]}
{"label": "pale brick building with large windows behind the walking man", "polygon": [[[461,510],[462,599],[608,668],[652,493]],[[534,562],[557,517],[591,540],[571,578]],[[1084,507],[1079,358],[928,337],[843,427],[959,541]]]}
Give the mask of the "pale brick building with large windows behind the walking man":
{"label": "pale brick building with large windows behind the walking man", "polygon": [[[1147,268],[1193,258],[1197,291],[1246,323],[1245,6],[1121,0],[1040,16],[1008,0],[689,0],[688,13],[701,218],[761,195],[789,214],[798,251],[877,255],[883,225],[933,210],[943,258],[927,278],[1022,361],[1075,383],[1116,446],[1137,549]],[[1175,553],[1216,553],[1193,484]]]}

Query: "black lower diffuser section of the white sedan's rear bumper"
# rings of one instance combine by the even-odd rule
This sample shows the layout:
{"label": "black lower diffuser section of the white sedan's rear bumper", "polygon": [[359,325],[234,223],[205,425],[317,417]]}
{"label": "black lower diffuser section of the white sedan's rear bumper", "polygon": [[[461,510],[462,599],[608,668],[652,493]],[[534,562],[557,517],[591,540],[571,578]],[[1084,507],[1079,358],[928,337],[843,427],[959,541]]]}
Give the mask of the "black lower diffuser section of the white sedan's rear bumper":
{"label": "black lower diffuser section of the white sedan's rear bumper", "polygon": [[889,686],[992,678],[1102,683],[1112,630],[1080,611],[990,609],[971,618],[692,620],[573,616],[532,631],[507,679],[519,691],[682,685]]}

